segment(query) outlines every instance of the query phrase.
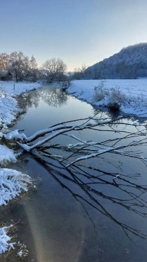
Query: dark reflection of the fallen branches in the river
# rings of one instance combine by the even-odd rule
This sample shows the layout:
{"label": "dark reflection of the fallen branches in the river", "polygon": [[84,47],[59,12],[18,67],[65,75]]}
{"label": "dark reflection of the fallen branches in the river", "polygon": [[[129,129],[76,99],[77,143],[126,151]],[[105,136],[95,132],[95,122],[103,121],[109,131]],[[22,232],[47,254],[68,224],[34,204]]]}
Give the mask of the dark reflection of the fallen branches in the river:
{"label": "dark reflection of the fallen branches in the river", "polygon": [[[47,155],[46,151],[43,152]],[[44,154],[38,156],[34,154],[34,157],[63,188],[68,190],[80,202],[88,215],[87,204],[91,205],[91,208],[94,210],[107,216],[117,225],[120,225],[129,239],[132,238],[132,234],[142,239],[146,238],[146,233],[133,228],[131,221],[127,219],[126,222],[122,222],[117,218],[118,214],[111,211],[111,209],[113,210],[113,205],[118,205],[117,212],[124,212],[124,214],[133,212],[146,218],[147,186],[140,185],[139,181],[137,181],[137,178],[140,178],[140,174],[106,172],[105,170],[94,168],[93,165],[76,165],[65,170],[65,165],[45,157]],[[78,188],[74,188],[72,183],[77,185]],[[107,205],[109,205],[109,208]],[[89,219],[91,219],[90,216]],[[93,221],[92,223],[94,225]]]}

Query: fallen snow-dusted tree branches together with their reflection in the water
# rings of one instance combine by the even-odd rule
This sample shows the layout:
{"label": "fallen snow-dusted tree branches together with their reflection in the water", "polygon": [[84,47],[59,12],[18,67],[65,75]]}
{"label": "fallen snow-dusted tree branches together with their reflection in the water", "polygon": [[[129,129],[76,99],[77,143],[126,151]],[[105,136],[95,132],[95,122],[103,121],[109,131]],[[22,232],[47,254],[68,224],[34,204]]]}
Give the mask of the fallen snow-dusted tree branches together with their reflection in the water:
{"label": "fallen snow-dusted tree branches together with their reflection in the water", "polygon": [[[98,141],[91,137],[84,140],[87,130],[89,134],[95,132]],[[147,158],[142,152],[147,142],[146,125],[123,117],[99,119],[95,115],[57,123],[30,137],[16,130],[1,137],[4,142],[14,143],[19,152],[21,148],[22,153],[32,154],[76,200],[109,217],[128,237],[130,233],[145,237],[129,223],[115,217],[106,203],[117,205],[118,210],[126,214],[131,212],[146,218],[147,185],[141,183],[141,172],[131,172],[131,167],[126,171],[122,164],[135,159],[146,168]],[[56,137],[60,137],[60,144],[54,140]],[[66,138],[63,145],[62,137]],[[78,186],[78,190],[70,187],[70,183]]]}

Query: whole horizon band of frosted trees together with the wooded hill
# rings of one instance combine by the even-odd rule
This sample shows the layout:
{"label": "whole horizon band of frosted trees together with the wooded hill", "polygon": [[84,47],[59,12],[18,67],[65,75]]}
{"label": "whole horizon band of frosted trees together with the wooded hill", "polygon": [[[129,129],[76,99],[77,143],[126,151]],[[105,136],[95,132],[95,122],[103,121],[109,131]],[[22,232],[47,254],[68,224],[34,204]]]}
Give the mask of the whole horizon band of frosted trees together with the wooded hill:
{"label": "whole horizon band of frosted trees together with the wooded hill", "polygon": [[36,59],[23,52],[0,54],[0,79],[18,81],[68,81],[69,79],[137,79],[147,77],[147,43],[123,48],[117,54],[67,74],[61,59],[49,59],[38,68]]}

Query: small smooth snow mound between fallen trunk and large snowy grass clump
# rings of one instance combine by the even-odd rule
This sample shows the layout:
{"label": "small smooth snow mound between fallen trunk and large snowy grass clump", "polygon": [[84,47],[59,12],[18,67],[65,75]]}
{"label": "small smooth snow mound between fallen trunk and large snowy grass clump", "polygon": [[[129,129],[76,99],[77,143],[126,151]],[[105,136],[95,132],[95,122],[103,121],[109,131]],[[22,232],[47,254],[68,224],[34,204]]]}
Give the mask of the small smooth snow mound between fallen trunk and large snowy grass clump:
{"label": "small smooth snow mound between fallen trunk and large snowy grass clump", "polygon": [[6,145],[0,145],[0,164],[5,164],[8,162],[16,162],[14,151],[10,150]]}

